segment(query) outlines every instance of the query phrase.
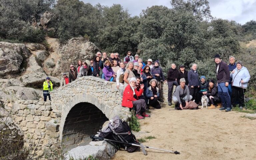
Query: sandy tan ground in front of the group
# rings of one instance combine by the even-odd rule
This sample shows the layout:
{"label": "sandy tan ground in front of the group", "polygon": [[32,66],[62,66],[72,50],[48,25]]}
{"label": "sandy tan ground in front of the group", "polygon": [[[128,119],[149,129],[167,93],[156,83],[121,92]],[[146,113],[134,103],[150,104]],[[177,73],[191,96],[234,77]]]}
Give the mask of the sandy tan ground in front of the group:
{"label": "sandy tan ground in front of the group", "polygon": [[178,111],[169,106],[150,111],[151,118],[140,120],[144,134],[136,138],[155,136],[143,144],[177,150],[180,155],[154,149],[146,149],[146,156],[119,150],[113,160],[256,159],[256,120],[242,118],[245,113],[206,108]]}

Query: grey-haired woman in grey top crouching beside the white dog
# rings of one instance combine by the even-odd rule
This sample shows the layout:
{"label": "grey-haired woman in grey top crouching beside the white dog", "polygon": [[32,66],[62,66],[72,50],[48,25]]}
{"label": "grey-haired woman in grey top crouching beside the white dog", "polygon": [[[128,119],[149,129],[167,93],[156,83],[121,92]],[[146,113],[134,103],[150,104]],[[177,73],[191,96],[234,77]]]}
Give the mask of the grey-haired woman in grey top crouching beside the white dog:
{"label": "grey-haired woman in grey top crouching beside the white dog", "polygon": [[185,85],[186,80],[185,78],[180,79],[180,85],[176,87],[174,93],[173,93],[173,103],[175,104],[175,109],[180,108],[183,109],[182,103],[186,103],[185,107],[188,106],[188,102],[192,99],[192,96],[190,95],[188,86]]}

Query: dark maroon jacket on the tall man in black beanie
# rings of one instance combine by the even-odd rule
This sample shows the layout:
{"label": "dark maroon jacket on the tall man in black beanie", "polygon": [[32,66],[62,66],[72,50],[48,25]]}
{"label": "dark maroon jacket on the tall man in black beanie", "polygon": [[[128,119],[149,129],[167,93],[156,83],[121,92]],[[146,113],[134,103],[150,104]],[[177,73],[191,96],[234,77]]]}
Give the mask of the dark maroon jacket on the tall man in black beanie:
{"label": "dark maroon jacket on the tall man in black beanie", "polygon": [[229,82],[230,73],[227,63],[221,61],[219,64],[216,64],[215,71],[217,71],[217,66],[219,65],[218,73],[216,73],[217,76],[217,82],[223,83],[223,82]]}

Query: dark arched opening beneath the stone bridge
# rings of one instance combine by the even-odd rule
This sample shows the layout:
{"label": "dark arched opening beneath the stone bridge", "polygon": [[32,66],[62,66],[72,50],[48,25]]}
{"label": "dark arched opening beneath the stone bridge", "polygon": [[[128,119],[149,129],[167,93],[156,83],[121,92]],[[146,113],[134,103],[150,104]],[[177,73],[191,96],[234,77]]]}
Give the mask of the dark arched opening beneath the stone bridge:
{"label": "dark arched opening beneath the stone bridge", "polygon": [[84,146],[91,142],[90,135],[96,134],[108,118],[95,105],[81,102],[69,111],[62,131],[65,150]]}

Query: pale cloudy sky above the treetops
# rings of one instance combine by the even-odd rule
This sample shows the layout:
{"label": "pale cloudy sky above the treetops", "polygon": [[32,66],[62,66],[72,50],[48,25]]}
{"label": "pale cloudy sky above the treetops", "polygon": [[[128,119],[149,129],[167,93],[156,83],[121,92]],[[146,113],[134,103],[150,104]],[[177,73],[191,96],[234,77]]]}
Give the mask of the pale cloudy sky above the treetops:
{"label": "pale cloudy sky above the treetops", "polygon": [[[163,5],[171,8],[171,0],[82,0],[84,3],[95,5],[100,3],[105,6],[121,4],[128,9],[131,16],[139,15],[142,9],[153,5]],[[256,0],[209,0],[210,10],[213,17],[235,20],[245,24],[250,20],[256,20]]]}

